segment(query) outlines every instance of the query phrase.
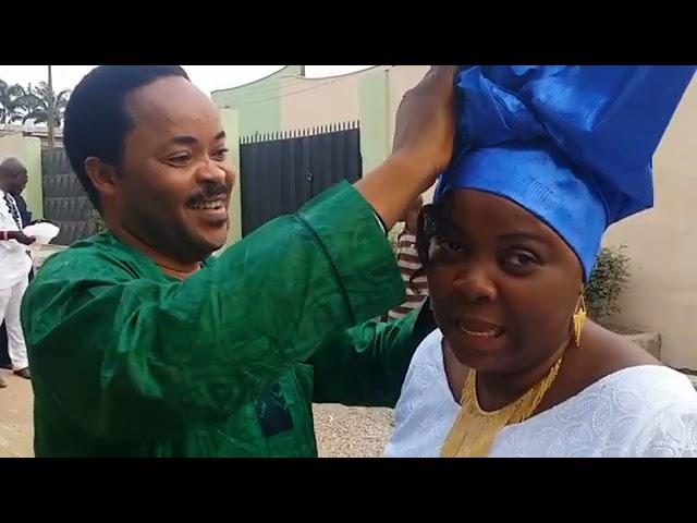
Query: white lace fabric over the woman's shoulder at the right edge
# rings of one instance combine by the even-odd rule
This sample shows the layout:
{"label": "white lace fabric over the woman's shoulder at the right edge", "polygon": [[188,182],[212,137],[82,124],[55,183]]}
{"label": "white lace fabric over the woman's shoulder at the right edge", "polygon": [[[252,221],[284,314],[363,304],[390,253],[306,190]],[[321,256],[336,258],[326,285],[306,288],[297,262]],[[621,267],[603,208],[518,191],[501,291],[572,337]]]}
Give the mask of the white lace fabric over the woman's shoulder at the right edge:
{"label": "white lace fabric over the woman's shoulder at the right edge", "polygon": [[697,391],[670,367],[626,367],[510,425],[498,443],[496,455],[697,457]]}

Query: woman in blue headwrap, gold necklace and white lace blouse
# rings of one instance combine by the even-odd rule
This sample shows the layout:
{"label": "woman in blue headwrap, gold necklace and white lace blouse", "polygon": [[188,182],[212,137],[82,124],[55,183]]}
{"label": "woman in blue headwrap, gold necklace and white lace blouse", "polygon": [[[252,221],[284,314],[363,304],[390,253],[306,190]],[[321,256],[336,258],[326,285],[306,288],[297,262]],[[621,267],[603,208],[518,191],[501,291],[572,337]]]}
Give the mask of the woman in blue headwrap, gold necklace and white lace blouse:
{"label": "woman in blue headwrap, gold necklace and white lace blouse", "polygon": [[[697,392],[585,321],[602,233],[652,205],[694,68],[473,66],[455,161],[419,219],[439,329],[388,457],[697,455]],[[466,139],[464,139],[466,138]]]}

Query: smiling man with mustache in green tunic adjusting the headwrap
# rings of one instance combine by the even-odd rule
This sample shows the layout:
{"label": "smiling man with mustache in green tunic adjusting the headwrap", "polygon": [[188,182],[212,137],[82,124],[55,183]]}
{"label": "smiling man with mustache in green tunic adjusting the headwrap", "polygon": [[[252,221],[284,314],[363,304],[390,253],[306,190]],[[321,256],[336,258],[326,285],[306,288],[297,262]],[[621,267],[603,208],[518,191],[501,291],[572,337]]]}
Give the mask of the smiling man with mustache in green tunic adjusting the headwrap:
{"label": "smiling man with mustache in green tunic adjusting the headwrap", "polygon": [[83,78],[64,144],[108,230],[23,303],[36,455],[314,457],[313,401],[393,404],[426,307],[346,329],[404,296],[387,230],[450,161],[454,72],[404,97],[384,163],[216,259],[233,169],[208,96],[178,66]]}

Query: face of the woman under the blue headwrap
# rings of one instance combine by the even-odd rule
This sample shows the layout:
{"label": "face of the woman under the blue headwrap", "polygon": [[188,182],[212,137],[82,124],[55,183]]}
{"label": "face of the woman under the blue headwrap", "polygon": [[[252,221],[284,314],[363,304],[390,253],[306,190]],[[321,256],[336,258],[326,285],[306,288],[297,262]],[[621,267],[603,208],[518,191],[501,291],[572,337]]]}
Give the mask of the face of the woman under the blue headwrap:
{"label": "face of the woman under the blue headwrap", "polygon": [[[457,360],[514,374],[549,358],[571,336],[583,270],[564,241],[506,198],[454,190],[428,209],[428,287]],[[438,214],[438,217],[433,215]]]}

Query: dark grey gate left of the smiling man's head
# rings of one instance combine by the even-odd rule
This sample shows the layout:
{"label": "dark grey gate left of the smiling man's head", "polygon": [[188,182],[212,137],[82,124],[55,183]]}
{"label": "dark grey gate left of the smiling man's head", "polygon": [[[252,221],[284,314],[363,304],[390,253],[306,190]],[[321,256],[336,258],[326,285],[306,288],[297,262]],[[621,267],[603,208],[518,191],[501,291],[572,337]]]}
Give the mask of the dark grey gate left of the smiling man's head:
{"label": "dark grey gate left of the smiling man's head", "polygon": [[41,150],[44,218],[61,228],[51,242],[71,245],[97,232],[95,208],[62,148]]}

